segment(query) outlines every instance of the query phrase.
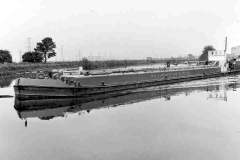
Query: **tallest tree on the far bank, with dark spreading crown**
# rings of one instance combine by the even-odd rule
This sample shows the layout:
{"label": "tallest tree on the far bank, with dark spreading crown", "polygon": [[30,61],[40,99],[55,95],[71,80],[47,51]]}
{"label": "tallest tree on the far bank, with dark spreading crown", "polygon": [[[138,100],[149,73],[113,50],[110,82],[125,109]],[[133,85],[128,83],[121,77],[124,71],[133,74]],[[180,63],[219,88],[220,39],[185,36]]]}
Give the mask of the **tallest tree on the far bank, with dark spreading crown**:
{"label": "tallest tree on the far bank, with dark spreading crown", "polygon": [[52,38],[47,37],[42,40],[42,42],[38,42],[34,51],[42,54],[44,58],[44,62],[47,62],[47,59],[56,56],[56,52],[54,49],[56,48],[56,44],[52,41]]}

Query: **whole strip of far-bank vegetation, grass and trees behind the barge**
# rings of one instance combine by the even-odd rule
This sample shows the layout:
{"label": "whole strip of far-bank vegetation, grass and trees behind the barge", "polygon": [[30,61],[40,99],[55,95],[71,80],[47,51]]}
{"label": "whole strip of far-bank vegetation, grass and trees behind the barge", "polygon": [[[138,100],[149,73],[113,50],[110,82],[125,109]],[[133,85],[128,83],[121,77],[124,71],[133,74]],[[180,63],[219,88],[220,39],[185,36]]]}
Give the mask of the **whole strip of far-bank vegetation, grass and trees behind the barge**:
{"label": "whole strip of far-bank vegetation, grass and trees behind the barge", "polygon": [[[152,63],[178,64],[189,60],[198,60],[198,57],[188,54],[187,57],[156,59],[156,60],[106,60],[106,61],[89,61],[83,58],[81,61],[71,62],[47,62],[51,57],[56,56],[56,44],[51,37],[44,38],[38,42],[33,52],[26,52],[22,56],[22,63],[12,63],[12,55],[7,50],[0,50],[0,75],[16,75],[16,73],[32,72],[36,70],[52,70],[60,68],[71,68],[82,66],[85,70],[91,69],[107,69],[115,67],[127,67],[131,65],[145,65]],[[212,46],[205,46],[200,60],[207,60],[206,54],[208,50],[214,50]],[[203,58],[201,58],[203,57]],[[152,58],[151,58],[152,59]],[[43,63],[44,62],[44,63]],[[3,64],[1,64],[3,63]]]}

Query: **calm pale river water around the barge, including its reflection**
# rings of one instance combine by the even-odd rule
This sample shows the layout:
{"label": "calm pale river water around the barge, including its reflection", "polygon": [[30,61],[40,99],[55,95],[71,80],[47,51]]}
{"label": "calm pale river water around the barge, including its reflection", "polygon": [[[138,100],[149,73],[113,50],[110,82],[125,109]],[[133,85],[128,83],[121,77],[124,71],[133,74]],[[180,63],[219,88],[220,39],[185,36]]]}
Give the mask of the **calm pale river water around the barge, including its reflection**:
{"label": "calm pale river water around the barge, including its reflection", "polygon": [[1,98],[0,159],[239,159],[239,87],[233,76],[104,99]]}

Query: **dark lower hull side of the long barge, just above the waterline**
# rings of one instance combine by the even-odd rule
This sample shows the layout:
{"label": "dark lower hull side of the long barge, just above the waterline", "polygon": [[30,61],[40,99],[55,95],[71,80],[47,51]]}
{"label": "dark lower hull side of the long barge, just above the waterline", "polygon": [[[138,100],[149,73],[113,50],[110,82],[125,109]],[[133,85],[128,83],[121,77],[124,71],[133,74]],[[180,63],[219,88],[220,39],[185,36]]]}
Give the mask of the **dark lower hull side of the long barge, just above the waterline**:
{"label": "dark lower hull side of the long barge, just above the waterline", "polygon": [[153,81],[141,81],[135,83],[125,83],[119,85],[96,86],[96,87],[52,87],[52,86],[23,86],[15,85],[15,96],[18,99],[40,99],[40,98],[63,98],[63,97],[85,97],[88,95],[117,92],[123,90],[137,89],[149,86],[166,85],[192,80],[200,80],[214,77],[237,74],[240,71],[226,73],[210,73],[204,75],[186,76],[171,79],[161,79]]}

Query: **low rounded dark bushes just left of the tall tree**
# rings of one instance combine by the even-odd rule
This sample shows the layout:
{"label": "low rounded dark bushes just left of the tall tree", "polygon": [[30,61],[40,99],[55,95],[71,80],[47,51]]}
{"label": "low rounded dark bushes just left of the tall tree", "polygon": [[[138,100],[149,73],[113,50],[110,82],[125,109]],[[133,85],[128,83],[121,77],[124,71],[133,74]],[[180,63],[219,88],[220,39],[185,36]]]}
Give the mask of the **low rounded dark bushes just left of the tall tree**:
{"label": "low rounded dark bushes just left of the tall tree", "polygon": [[43,56],[42,56],[42,53],[39,53],[39,52],[26,52],[22,56],[22,60],[23,62],[31,62],[31,63],[42,62]]}

